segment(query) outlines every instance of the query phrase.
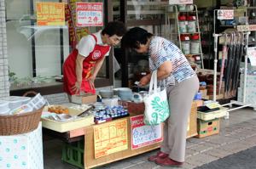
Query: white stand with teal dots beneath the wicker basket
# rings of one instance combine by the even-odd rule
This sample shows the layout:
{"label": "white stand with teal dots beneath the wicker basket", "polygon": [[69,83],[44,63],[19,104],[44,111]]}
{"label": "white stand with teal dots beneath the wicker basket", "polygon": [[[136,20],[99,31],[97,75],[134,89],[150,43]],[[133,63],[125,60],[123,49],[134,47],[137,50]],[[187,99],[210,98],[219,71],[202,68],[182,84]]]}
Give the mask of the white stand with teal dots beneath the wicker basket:
{"label": "white stand with teal dots beneath the wicker basket", "polygon": [[32,132],[0,136],[0,168],[44,169],[42,124]]}

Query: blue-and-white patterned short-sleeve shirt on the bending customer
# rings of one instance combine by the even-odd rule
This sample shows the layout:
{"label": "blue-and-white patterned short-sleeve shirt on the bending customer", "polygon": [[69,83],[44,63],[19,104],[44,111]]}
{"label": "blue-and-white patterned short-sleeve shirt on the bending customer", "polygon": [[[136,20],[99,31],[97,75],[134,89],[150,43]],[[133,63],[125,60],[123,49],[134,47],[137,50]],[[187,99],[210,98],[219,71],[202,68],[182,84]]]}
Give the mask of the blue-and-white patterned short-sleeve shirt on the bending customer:
{"label": "blue-and-white patterned short-sleeve shirt on the bending customer", "polygon": [[195,76],[195,71],[189,65],[189,61],[182,51],[163,37],[152,37],[148,54],[149,69],[151,71],[158,69],[167,60],[172,62],[172,74],[160,82],[161,85],[168,87],[174,85],[175,81],[182,82]]}

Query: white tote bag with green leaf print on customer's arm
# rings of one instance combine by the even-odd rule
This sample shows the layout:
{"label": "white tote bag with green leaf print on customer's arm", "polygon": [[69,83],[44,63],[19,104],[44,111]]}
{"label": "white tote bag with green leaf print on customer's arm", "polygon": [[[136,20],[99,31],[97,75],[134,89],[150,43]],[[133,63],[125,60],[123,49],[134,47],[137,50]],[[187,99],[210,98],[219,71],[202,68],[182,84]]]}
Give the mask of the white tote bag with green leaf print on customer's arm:
{"label": "white tote bag with green leaf print on customer's arm", "polygon": [[149,92],[143,99],[145,104],[144,123],[146,125],[159,125],[166,121],[170,115],[166,88],[160,91],[157,87],[157,70],[154,70],[149,83]]}

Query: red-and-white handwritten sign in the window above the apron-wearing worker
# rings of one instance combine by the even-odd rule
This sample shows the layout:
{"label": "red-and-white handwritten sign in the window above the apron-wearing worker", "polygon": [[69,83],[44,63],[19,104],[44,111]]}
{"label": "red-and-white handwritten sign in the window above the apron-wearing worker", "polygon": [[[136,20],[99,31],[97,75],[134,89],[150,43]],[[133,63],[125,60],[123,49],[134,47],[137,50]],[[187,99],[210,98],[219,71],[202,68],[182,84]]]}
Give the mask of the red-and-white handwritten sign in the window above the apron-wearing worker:
{"label": "red-and-white handwritten sign in the window above the apron-wearing worker", "polygon": [[102,26],[103,3],[77,3],[77,26]]}

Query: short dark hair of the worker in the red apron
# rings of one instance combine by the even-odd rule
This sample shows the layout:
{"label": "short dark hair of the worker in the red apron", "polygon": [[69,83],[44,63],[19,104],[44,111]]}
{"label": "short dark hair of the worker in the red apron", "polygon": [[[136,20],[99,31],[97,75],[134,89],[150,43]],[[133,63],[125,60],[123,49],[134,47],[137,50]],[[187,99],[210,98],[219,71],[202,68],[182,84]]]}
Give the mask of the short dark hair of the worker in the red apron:
{"label": "short dark hair of the worker in the red apron", "polygon": [[118,37],[123,37],[126,32],[125,24],[121,21],[111,21],[108,22],[108,25],[102,30],[102,35],[107,34],[109,37],[117,35]]}

